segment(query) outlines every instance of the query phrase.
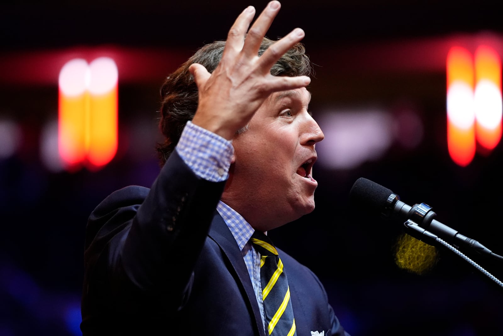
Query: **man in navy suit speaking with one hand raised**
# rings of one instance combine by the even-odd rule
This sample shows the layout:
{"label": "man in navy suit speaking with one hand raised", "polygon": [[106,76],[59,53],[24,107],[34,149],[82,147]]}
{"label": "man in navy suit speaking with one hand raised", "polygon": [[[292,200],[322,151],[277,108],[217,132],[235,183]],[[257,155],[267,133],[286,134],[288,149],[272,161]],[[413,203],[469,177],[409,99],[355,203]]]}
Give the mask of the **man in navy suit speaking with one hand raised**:
{"label": "man in navy suit speaking with one hand raised", "polygon": [[263,234],[314,209],[323,139],[308,112],[304,32],[265,38],[279,8],[270,2],[249,30],[246,8],[225,42],[166,79],[158,177],[89,218],[84,335],[347,334],[318,278]]}

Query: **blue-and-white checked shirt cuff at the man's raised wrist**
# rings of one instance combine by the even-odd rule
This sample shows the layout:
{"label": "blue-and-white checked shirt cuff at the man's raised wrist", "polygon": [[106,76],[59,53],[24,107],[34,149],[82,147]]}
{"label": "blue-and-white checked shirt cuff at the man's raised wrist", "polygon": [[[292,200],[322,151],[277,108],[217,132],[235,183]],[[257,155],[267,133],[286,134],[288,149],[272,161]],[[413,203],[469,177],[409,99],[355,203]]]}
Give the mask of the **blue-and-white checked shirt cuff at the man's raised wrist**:
{"label": "blue-and-white checked shirt cuff at the man's raised wrist", "polygon": [[188,121],[176,151],[197,176],[212,182],[227,179],[234,155],[232,141]]}

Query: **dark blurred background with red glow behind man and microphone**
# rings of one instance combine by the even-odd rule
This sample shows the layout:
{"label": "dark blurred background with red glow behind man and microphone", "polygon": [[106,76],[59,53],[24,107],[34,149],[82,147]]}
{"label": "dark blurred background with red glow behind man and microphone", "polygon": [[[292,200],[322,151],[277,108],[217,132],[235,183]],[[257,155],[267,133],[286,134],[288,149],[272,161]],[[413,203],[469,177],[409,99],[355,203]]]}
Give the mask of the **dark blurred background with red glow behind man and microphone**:
{"label": "dark blurred background with red glow behind man and microphone", "polygon": [[[247,5],[267,2],[46,2],[0,7],[0,119],[21,125],[18,151],[0,159],[0,334],[79,334],[87,217],[113,190],[149,186],[158,172],[153,146],[163,78],[197,48],[225,39]],[[406,203],[433,206],[437,219],[502,255],[501,146],[467,167],[447,152],[449,46],[490,41],[502,55],[503,20],[484,2],[282,4],[268,36],[306,32],[315,64],[316,110],[412,106],[424,135],[415,148],[348,169],[315,166],[313,213],[270,234],[308,265],[353,336],[503,335],[503,288],[451,251],[417,274],[395,264],[399,226],[358,216],[351,186],[366,177]],[[105,168],[51,172],[40,159],[42,125],[57,118],[57,75],[71,55],[116,55],[119,151]],[[121,72],[121,70],[123,70]],[[320,125],[323,129],[323,125]],[[328,140],[328,139],[325,139]],[[267,172],[266,172],[267,173]],[[495,276],[501,261],[462,252]]]}

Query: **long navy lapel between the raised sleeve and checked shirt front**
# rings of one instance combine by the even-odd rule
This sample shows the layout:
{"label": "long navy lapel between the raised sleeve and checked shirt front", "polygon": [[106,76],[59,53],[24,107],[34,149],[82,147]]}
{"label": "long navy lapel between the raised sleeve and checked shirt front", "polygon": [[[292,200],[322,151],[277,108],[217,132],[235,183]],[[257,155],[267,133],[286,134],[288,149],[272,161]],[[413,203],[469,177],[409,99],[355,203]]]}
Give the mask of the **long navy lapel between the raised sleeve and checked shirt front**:
{"label": "long navy lapel between the raised sleeve and checked shirt front", "polygon": [[232,265],[232,268],[237,275],[244,292],[246,293],[251,310],[254,312],[257,329],[259,330],[261,336],[266,336],[264,326],[262,324],[262,316],[260,315],[259,304],[257,303],[255,291],[253,289],[253,285],[251,285],[250,276],[248,274],[248,270],[246,269],[246,265],[244,264],[241,251],[239,250],[232,233],[225,224],[225,221],[217,211],[215,211],[215,215],[213,216],[213,221],[208,235],[213,241],[215,241],[215,243],[218,244]]}

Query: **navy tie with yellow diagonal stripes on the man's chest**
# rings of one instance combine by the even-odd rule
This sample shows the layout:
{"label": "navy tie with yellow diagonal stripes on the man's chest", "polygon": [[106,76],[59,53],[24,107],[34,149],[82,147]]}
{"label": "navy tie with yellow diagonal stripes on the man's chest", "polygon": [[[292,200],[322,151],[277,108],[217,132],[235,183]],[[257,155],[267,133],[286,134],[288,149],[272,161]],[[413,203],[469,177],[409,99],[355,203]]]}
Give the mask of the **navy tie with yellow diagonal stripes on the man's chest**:
{"label": "navy tie with yellow diagonal stripes on the man's chest", "polygon": [[267,331],[271,336],[297,335],[290,288],[278,251],[271,240],[257,230],[251,242],[261,255],[260,279]]}

